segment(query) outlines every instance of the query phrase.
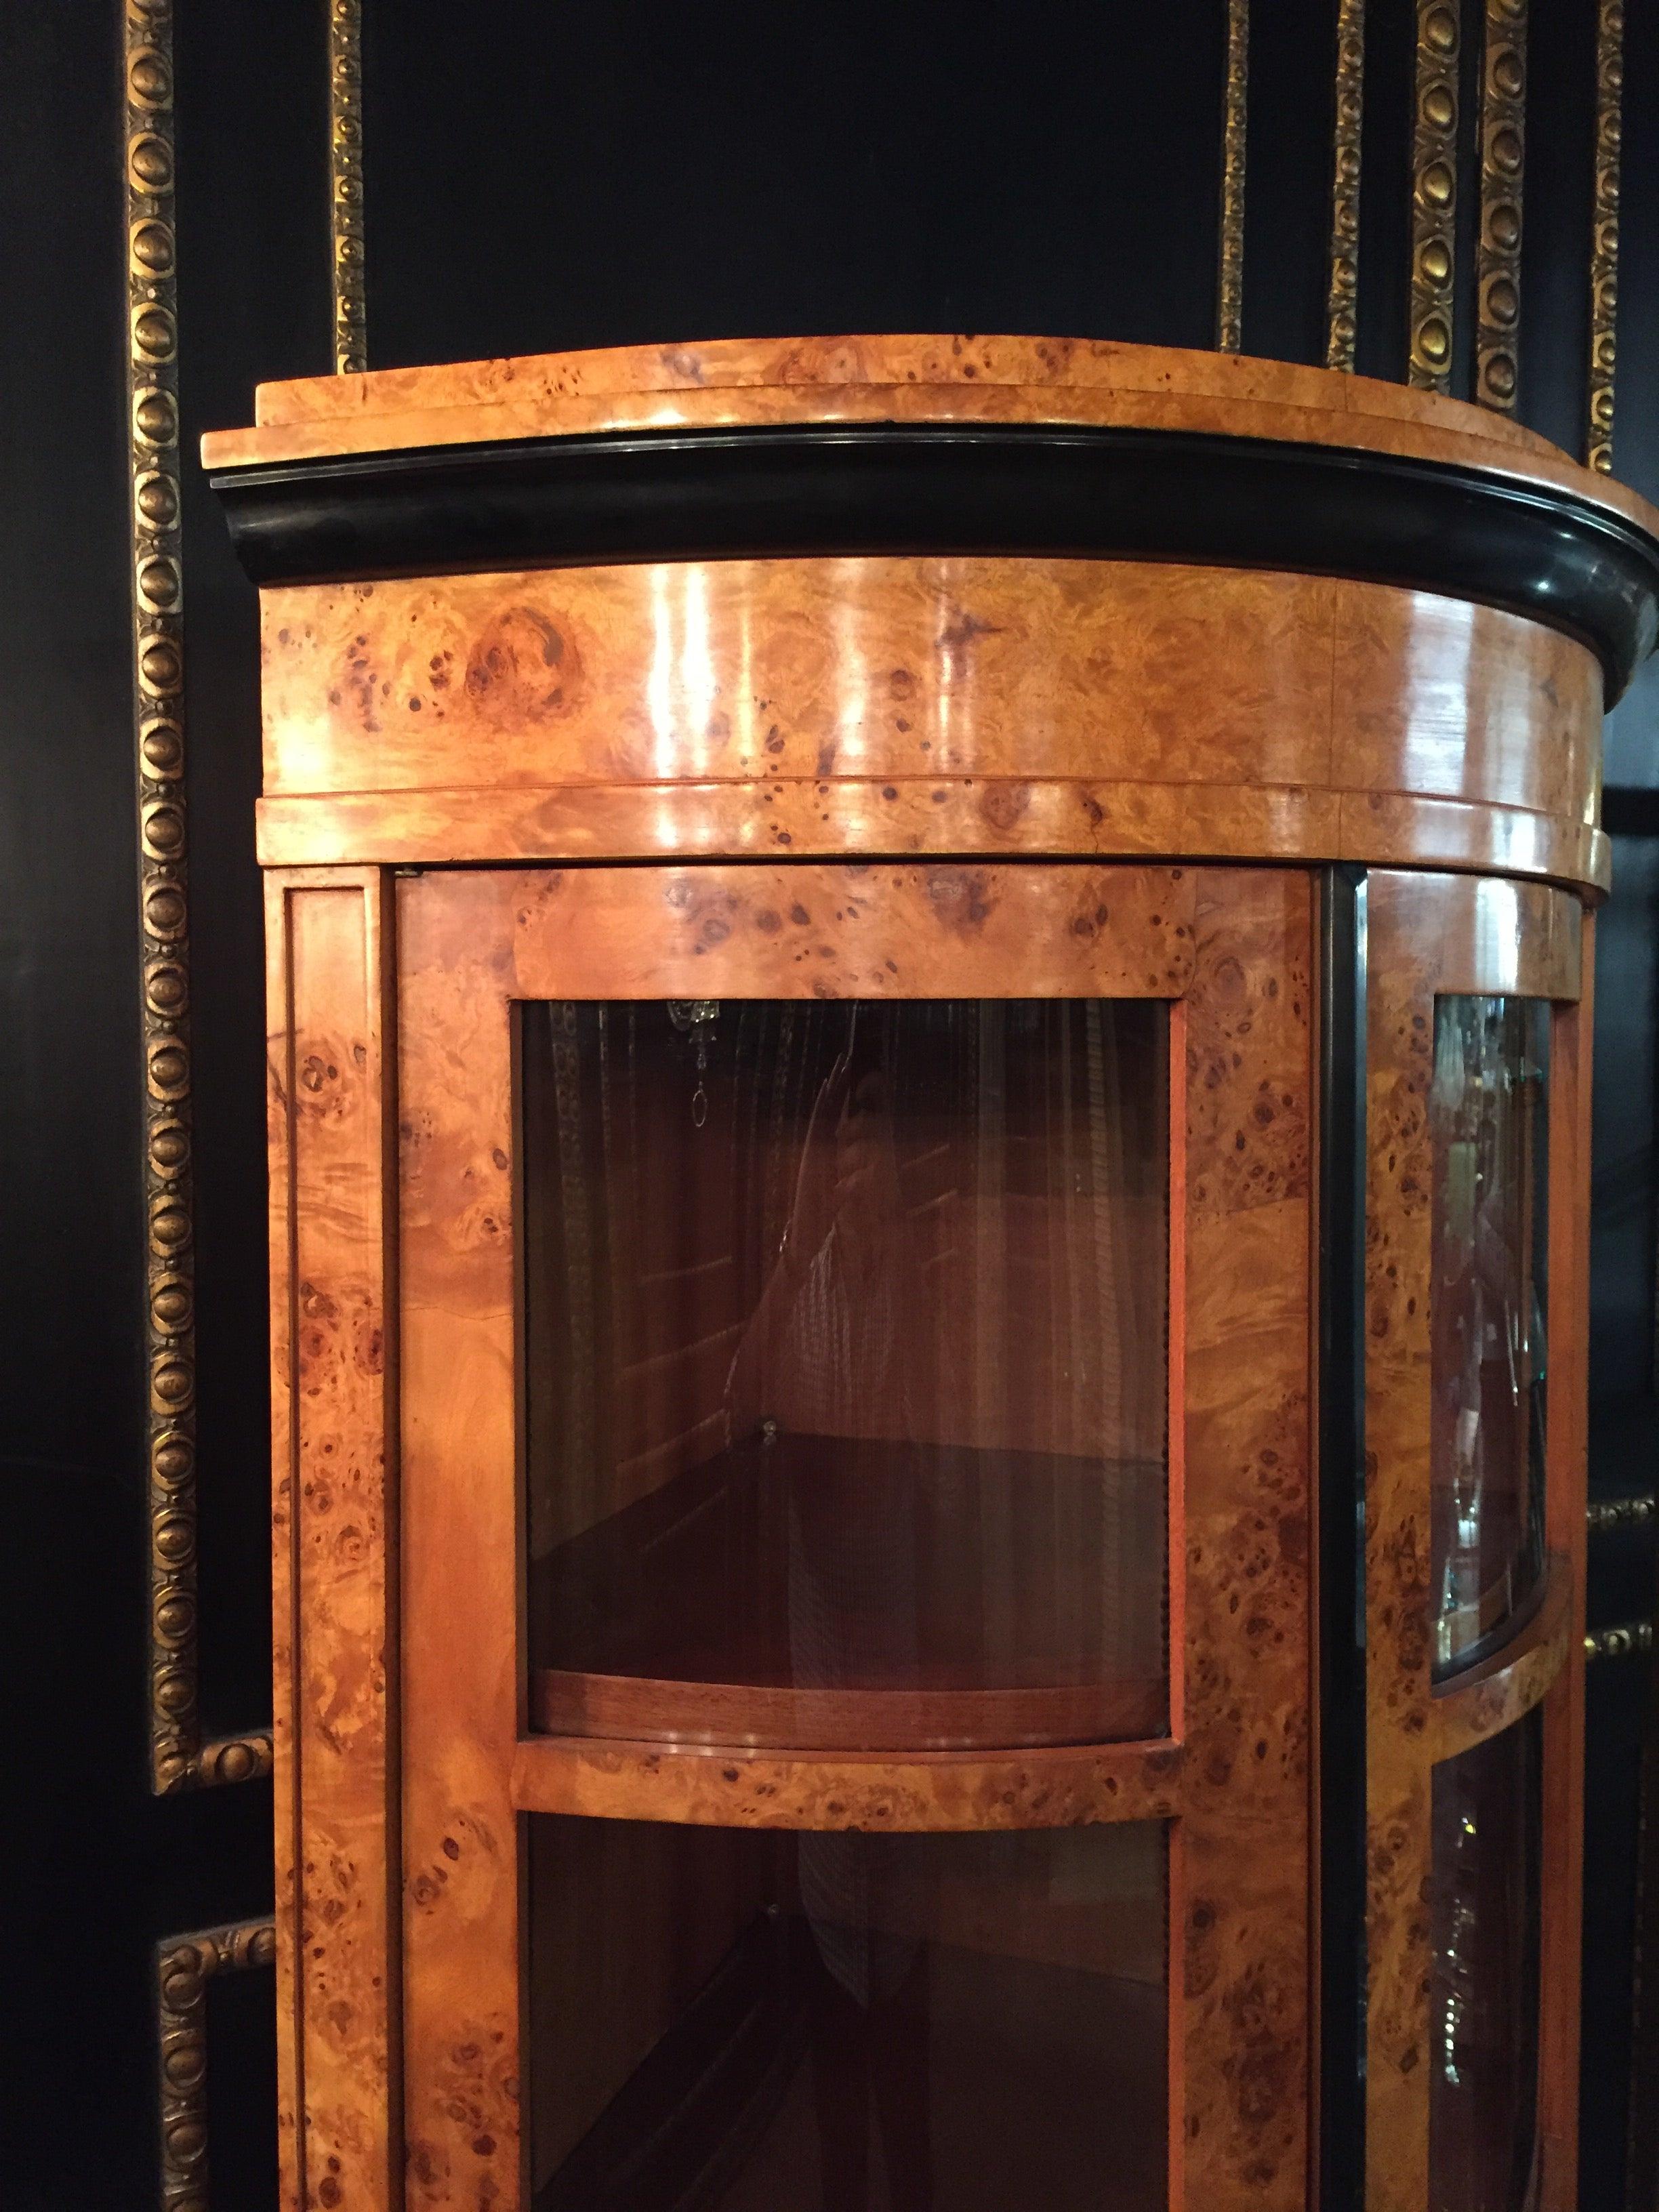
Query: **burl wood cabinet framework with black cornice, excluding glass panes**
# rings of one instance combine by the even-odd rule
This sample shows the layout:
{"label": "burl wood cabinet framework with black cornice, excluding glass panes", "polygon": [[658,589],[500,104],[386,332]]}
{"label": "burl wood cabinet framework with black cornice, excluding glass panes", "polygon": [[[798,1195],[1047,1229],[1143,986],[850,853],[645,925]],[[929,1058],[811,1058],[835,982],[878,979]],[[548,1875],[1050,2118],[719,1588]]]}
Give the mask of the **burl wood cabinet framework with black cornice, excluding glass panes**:
{"label": "burl wood cabinet framework with black cornice, excluding glass panes", "polygon": [[[1356,2013],[1365,1973],[1365,2201],[1427,2212],[1433,1770],[1535,1710],[1535,2185],[1568,2212],[1586,907],[1599,717],[1655,639],[1659,518],[1431,394],[1044,338],[398,369],[265,387],[257,414],[206,451],[263,586],[290,2212],[531,2212],[538,1818],[1157,1823],[1168,2203],[1318,2201],[1316,2115],[1345,2101],[1316,2079],[1321,2002]],[[1327,927],[1338,889],[1360,960]],[[1453,993],[1553,1006],[1551,1380],[1533,1601],[1438,1679],[1429,1091]],[[1166,1009],[1168,1728],[1093,1741],[1119,1708],[1088,1686],[717,1681],[686,1705],[531,1661],[515,1024],[675,1002],[695,1029],[750,1000]],[[1347,1230],[1318,1212],[1354,1141],[1318,1115],[1343,1053],[1347,1347]],[[1363,1371],[1323,1462],[1321,1327]],[[1356,1484],[1365,1710],[1321,1714]],[[909,1745],[971,1747],[867,1747],[907,1699]],[[1318,1818],[1345,1734],[1347,1984]],[[648,1916],[630,1940],[644,1958]]]}

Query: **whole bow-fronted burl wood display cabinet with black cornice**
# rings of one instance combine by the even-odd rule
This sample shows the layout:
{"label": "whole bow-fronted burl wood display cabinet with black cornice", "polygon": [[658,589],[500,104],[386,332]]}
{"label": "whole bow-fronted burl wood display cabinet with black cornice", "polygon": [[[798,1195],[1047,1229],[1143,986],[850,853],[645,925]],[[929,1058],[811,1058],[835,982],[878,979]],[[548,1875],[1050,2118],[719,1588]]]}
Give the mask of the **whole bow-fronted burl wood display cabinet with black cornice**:
{"label": "whole bow-fronted burl wood display cabinet with black cornice", "polygon": [[265,387],[285,2201],[1566,2212],[1655,518],[1013,338]]}

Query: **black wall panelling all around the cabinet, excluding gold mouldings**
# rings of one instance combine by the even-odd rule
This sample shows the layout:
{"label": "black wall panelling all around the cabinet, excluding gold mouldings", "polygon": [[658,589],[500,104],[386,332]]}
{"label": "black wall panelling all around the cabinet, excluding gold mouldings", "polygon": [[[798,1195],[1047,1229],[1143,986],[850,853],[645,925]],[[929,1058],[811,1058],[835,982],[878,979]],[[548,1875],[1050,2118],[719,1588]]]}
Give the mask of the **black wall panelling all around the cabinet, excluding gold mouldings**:
{"label": "black wall panelling all around the cabinet, excluding gold mouldings", "polygon": [[[1360,367],[1405,369],[1413,9],[1371,0]],[[1659,495],[1659,0],[1628,0],[1617,473]],[[265,1719],[252,591],[195,434],[330,367],[323,0],[175,0],[208,1730]],[[1245,347],[1323,358],[1334,0],[1256,0]],[[1467,22],[1478,27],[1478,7]],[[1208,345],[1223,0],[365,0],[376,367],[648,338]],[[1533,0],[1522,416],[1577,449],[1593,0]],[[0,2199],[155,2192],[150,1951],[270,1902],[270,1792],[146,1776],[122,0],[0,0]],[[1471,195],[1467,195],[1471,199]],[[1467,261],[1464,261],[1467,265]],[[1464,352],[1467,352],[1464,330]],[[1469,365],[1460,365],[1467,392]],[[1599,1493],[1655,1473],[1659,679],[1613,719],[1595,1102]],[[1652,1608],[1597,1537],[1593,1619]],[[1590,1672],[1586,2208],[1621,2201],[1641,1661]],[[270,1982],[215,1995],[215,2201],[274,2203]]]}

